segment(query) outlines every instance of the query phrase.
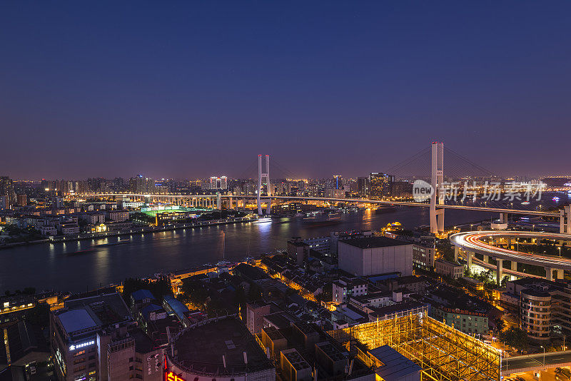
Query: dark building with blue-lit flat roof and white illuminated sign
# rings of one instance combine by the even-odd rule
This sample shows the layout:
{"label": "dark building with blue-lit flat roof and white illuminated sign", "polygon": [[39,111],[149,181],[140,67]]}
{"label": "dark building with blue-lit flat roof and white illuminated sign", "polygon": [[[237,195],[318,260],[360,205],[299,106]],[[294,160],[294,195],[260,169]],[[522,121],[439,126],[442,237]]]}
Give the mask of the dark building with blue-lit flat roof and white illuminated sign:
{"label": "dark building with blue-lit flat roof and white illuminated sign", "polygon": [[50,314],[50,350],[57,379],[107,380],[108,344],[131,324],[131,313],[118,293],[66,300],[64,308]]}

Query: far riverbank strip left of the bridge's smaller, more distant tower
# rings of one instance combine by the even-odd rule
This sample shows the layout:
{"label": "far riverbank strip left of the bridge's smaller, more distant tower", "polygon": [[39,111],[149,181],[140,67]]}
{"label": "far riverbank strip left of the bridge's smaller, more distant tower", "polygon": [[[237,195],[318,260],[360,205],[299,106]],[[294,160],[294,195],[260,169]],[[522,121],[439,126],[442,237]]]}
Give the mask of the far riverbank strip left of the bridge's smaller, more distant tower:
{"label": "far riverbank strip left of the bridge's smaller, more distant tower", "polygon": [[61,243],[61,242],[70,242],[75,240],[93,240],[98,238],[108,238],[108,237],[118,237],[121,235],[132,235],[133,233],[158,233],[161,231],[169,231],[169,230],[180,230],[180,229],[189,229],[189,228],[201,228],[203,226],[213,226],[213,225],[228,225],[232,223],[245,223],[245,222],[252,222],[258,220],[257,217],[238,217],[238,218],[224,218],[222,220],[206,220],[206,221],[198,221],[193,223],[173,223],[171,225],[163,225],[163,226],[137,226],[133,228],[129,228],[128,230],[118,230],[113,232],[102,232],[102,233],[81,233],[81,234],[74,234],[74,235],[58,235],[58,236],[51,236],[50,238],[46,238],[45,240],[34,240],[34,241],[23,241],[23,242],[15,242],[15,243],[8,243],[6,245],[0,245],[0,249],[7,249],[7,248],[14,248],[16,246],[23,246],[23,245],[35,245],[39,243]]}

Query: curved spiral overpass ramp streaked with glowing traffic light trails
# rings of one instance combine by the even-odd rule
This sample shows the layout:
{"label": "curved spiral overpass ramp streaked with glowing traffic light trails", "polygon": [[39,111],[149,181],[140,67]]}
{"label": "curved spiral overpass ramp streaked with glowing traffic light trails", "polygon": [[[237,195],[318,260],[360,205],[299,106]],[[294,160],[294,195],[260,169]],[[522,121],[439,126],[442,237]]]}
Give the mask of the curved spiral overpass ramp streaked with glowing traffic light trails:
{"label": "curved spiral overpass ramp streaked with glowing traffic light trails", "polygon": [[[505,238],[507,240],[508,248],[501,248],[490,243],[485,242],[485,239],[498,240]],[[557,278],[562,278],[562,270],[571,270],[571,259],[561,258],[552,255],[542,255],[534,253],[523,253],[517,250],[511,250],[511,239],[512,238],[535,238],[535,239],[550,239],[550,240],[567,240],[571,241],[570,234],[560,234],[560,233],[545,233],[545,232],[527,232],[527,231],[476,231],[476,232],[465,232],[456,233],[450,235],[450,242],[455,245],[457,249],[463,250],[467,253],[466,260],[468,265],[472,264],[473,253],[484,255],[486,257],[492,257],[497,261],[497,270],[502,273],[507,273],[510,275],[519,276],[533,276],[525,273],[517,272],[517,267],[514,264],[525,263],[527,265],[535,265],[546,270],[546,278],[552,279],[552,270],[558,270]],[[456,250],[458,253],[458,250]],[[503,260],[509,260],[512,263],[512,268],[504,269],[502,268]],[[476,260],[478,264],[482,261]],[[490,263],[487,263],[485,267],[490,268]],[[498,277],[500,278],[500,277]]]}

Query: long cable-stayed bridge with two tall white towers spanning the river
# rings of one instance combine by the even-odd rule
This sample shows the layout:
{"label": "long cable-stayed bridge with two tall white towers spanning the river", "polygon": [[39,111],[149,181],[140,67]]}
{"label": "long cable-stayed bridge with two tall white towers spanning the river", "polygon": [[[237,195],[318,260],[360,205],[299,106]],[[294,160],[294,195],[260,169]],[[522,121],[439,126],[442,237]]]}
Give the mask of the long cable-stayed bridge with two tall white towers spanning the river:
{"label": "long cable-stayed bridge with two tall white towers spanning the river", "polygon": [[[415,153],[415,155],[401,161],[395,166],[388,168],[386,173],[390,173],[395,180],[415,183],[413,193],[420,192],[424,187],[425,195],[423,200],[389,200],[370,198],[339,198],[339,197],[312,197],[303,195],[273,195],[270,171],[270,156],[258,155],[258,176],[257,190],[254,195],[233,195],[216,193],[216,195],[141,195],[134,193],[84,193],[84,196],[103,196],[108,198],[132,198],[145,200],[150,203],[173,203],[181,206],[203,207],[203,208],[227,208],[238,207],[239,204],[245,206],[248,200],[256,200],[258,214],[263,215],[263,207],[269,214],[272,200],[276,201],[328,201],[339,203],[370,203],[375,205],[403,205],[415,208],[430,208],[430,231],[439,233],[444,230],[444,212],[446,209],[455,210],[476,210],[483,212],[498,213],[502,222],[507,222],[507,214],[537,215],[542,217],[552,217],[560,219],[560,233],[571,233],[571,210],[567,205],[562,210],[545,210],[532,203],[514,203],[517,200],[515,192],[511,192],[509,197],[500,197],[497,193],[497,185],[500,184],[500,177],[495,176],[491,171],[473,163],[468,158],[464,158],[449,148],[445,148],[443,143],[433,142],[430,147]],[[255,164],[248,168],[242,178],[248,178],[248,171],[255,168]],[[290,172],[281,168],[282,173],[289,178],[293,178]],[[254,176],[251,176],[253,178]],[[477,183],[477,184],[476,184]],[[473,189],[468,189],[470,186]],[[529,185],[528,185],[529,186]],[[537,186],[535,184],[534,186]],[[515,191],[513,188],[511,191]],[[525,192],[525,187],[518,188]],[[487,198],[482,198],[488,195]],[[490,196],[490,193],[495,192]],[[507,192],[506,192],[507,193]],[[541,194],[541,193],[540,193]],[[462,197],[458,200],[458,195]],[[537,191],[532,197],[537,195]],[[467,198],[468,196],[468,198]],[[530,194],[527,194],[527,198]],[[422,198],[422,197],[420,197]],[[521,200],[521,198],[520,198]],[[511,202],[510,202],[511,201]]]}

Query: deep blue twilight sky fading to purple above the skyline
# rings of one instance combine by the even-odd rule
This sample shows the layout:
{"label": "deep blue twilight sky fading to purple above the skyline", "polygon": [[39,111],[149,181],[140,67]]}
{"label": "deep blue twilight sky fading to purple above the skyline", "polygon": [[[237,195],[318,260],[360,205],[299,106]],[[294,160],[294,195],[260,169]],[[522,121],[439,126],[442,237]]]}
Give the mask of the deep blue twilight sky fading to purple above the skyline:
{"label": "deep blue twilight sky fading to purple above the skyline", "polygon": [[[571,173],[570,1],[2,1],[0,175]],[[252,172],[251,175],[254,173]]]}

